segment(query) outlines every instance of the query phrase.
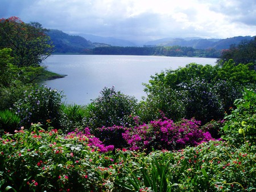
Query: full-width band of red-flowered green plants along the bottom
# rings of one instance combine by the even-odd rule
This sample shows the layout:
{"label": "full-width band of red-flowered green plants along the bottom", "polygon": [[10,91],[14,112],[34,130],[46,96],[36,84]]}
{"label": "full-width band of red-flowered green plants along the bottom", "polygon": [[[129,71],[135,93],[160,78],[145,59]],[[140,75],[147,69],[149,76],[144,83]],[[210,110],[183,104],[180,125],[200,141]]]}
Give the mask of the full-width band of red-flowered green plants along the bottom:
{"label": "full-width band of red-flowered green plants along the bottom", "polygon": [[[155,124],[173,125],[163,122]],[[211,140],[173,152],[112,153],[106,151],[113,146],[102,145],[88,128],[64,135],[40,127],[0,137],[1,191],[256,190],[256,147],[248,142],[240,148]]]}

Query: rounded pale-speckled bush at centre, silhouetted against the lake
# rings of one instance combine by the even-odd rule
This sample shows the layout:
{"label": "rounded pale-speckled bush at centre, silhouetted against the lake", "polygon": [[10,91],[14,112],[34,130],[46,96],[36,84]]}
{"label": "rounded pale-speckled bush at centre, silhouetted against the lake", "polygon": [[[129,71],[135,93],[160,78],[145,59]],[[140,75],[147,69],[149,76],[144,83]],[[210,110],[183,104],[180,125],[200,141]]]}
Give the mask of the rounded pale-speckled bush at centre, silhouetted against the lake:
{"label": "rounded pale-speckled bush at centre, silhouetted against the lake", "polygon": [[93,129],[125,125],[136,107],[137,100],[134,97],[115,91],[114,87],[105,87],[101,95],[88,106],[86,125]]}

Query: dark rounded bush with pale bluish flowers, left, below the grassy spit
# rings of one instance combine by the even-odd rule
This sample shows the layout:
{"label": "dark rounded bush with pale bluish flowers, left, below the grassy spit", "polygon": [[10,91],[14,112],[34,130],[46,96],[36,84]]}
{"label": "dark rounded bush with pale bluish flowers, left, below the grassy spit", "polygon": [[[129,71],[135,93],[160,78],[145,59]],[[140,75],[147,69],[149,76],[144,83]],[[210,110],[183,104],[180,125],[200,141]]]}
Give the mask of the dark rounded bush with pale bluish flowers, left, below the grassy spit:
{"label": "dark rounded bush with pale bluish flowers, left, below the grassy spit", "polygon": [[24,95],[14,103],[13,110],[21,119],[21,126],[29,127],[31,123],[46,124],[60,128],[60,107],[63,94],[46,86],[34,87],[24,91]]}

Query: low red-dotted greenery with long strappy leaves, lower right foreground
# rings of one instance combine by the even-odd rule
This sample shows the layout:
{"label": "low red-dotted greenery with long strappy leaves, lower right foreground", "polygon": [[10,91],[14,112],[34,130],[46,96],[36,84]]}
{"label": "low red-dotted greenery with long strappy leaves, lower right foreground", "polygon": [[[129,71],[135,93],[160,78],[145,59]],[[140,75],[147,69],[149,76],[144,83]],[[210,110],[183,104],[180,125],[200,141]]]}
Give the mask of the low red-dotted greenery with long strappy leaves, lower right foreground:
{"label": "low red-dotted greenery with long strappy leaves, lower right foreground", "polygon": [[255,153],[255,146],[224,141],[148,155],[119,152],[126,161],[117,182],[129,191],[255,191]]}

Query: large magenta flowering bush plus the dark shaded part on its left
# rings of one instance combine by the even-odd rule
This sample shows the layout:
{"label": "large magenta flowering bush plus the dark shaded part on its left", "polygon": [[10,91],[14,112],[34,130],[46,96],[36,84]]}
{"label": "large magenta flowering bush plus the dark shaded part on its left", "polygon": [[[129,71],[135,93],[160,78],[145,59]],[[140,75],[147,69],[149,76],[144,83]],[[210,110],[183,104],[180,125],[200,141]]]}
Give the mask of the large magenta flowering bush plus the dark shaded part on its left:
{"label": "large magenta flowering bush plus the dark shaded part on its left", "polygon": [[97,128],[97,137],[104,144],[113,144],[115,148],[129,147],[132,151],[147,151],[152,149],[175,150],[186,146],[195,146],[202,141],[212,139],[211,135],[200,122],[195,119],[182,119],[174,123],[164,118],[134,127],[102,127]]}

